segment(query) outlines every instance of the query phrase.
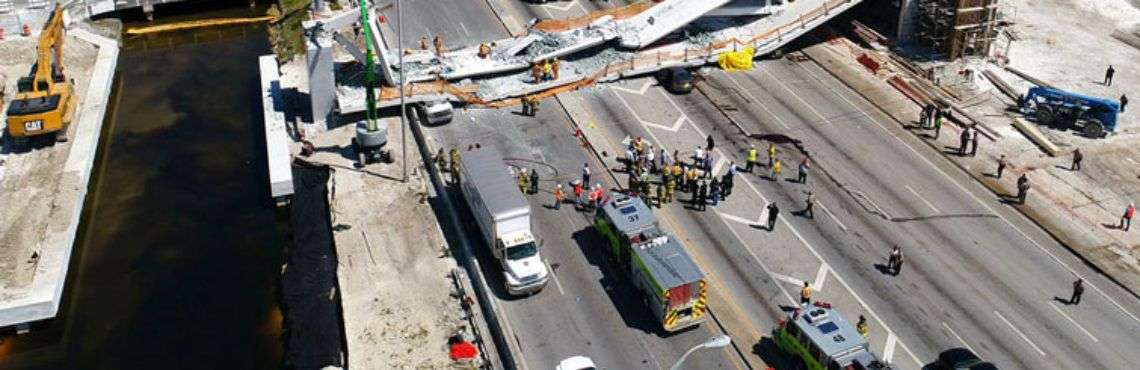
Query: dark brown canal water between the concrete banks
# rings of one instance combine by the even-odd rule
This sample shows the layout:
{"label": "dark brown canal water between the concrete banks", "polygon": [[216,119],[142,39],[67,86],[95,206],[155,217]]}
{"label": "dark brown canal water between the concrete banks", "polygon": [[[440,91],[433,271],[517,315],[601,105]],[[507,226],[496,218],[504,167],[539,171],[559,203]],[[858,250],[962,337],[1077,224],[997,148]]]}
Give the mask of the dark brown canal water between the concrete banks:
{"label": "dark brown canal water between the concrete banks", "polygon": [[60,314],[3,336],[0,369],[280,368],[290,240],[263,157],[266,28],[123,47]]}

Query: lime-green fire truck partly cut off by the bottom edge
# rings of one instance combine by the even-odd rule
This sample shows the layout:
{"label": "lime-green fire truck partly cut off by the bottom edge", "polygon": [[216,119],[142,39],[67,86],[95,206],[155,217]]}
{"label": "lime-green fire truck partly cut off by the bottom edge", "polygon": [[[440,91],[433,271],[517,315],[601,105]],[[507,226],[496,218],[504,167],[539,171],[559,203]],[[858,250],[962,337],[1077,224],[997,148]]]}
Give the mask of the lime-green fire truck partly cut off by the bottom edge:
{"label": "lime-green fire truck partly cut off by the bottom edge", "polygon": [[772,330],[781,351],[807,370],[890,370],[839,311],[828,304],[804,305],[788,313]]}

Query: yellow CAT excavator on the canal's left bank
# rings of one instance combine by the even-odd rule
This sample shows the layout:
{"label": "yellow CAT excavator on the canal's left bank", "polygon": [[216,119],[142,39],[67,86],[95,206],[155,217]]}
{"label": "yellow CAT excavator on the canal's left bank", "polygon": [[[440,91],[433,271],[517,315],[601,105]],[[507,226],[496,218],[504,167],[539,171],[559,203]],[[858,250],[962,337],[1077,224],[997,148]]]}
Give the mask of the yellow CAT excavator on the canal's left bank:
{"label": "yellow CAT excavator on the canal's left bank", "polygon": [[64,15],[57,5],[40,33],[32,73],[19,79],[16,96],[8,105],[8,135],[17,146],[48,134],[66,140],[75,96],[71,80],[63,73],[63,51]]}

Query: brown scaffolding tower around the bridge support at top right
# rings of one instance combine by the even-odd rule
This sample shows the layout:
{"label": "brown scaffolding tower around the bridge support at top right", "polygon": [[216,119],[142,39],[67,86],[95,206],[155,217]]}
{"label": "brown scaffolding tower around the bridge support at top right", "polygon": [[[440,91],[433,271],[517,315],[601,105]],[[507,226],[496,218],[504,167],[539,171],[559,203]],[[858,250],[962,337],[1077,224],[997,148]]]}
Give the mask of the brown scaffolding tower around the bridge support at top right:
{"label": "brown scaffolding tower around the bridge support at top right", "polygon": [[997,38],[997,0],[920,0],[918,40],[948,60],[985,57]]}

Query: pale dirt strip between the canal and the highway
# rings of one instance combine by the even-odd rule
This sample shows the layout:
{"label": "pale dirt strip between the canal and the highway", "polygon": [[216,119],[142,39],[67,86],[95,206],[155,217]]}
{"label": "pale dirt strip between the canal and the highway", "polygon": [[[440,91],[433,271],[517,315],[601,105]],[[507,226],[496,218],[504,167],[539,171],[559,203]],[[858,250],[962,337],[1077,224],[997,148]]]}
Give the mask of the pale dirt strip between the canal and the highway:
{"label": "pale dirt strip between the canal and the highway", "polygon": [[408,147],[408,181],[401,182],[399,121],[384,122],[396,162],[364,171],[352,168],[351,125],[308,137],[317,147],[308,161],[335,170],[331,205],[349,367],[448,368],[447,339],[465,327],[450,296],[456,263],[422,202],[430,184],[415,142]]}

